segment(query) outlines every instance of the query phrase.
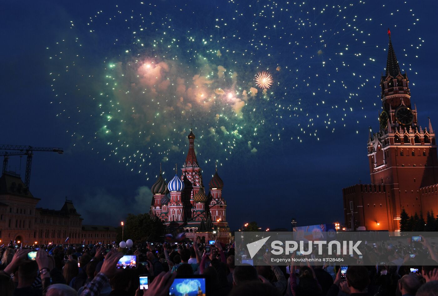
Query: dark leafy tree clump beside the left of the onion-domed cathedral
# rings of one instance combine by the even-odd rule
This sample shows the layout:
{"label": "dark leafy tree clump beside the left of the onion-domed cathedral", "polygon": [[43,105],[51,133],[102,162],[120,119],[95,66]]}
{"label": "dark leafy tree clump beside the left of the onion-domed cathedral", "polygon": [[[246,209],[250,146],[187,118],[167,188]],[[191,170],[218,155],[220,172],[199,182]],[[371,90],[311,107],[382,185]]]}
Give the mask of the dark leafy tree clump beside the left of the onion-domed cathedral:
{"label": "dark leafy tree clump beside the left of the onion-domed cathedral", "polygon": [[[124,225],[124,240],[131,239],[134,243],[158,242],[163,240],[165,226],[158,218],[151,217],[148,213],[128,214]],[[122,240],[122,227],[118,228],[117,241]]]}

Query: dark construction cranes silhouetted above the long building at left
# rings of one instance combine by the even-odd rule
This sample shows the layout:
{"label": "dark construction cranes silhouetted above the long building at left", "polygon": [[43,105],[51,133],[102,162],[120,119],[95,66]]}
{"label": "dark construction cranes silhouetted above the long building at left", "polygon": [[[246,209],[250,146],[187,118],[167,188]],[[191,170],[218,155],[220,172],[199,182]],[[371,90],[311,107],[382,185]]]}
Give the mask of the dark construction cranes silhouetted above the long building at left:
{"label": "dark construction cranes silhouetted above the long building at left", "polygon": [[13,152],[0,152],[0,156],[4,156],[2,173],[5,173],[7,170],[7,161],[9,159],[9,156],[12,155],[27,156],[26,173],[25,173],[25,186],[27,188],[29,188],[29,183],[30,183],[30,172],[32,169],[32,157],[34,151],[58,152],[59,154],[64,153],[64,150],[62,148],[32,147],[32,146],[20,146],[20,145],[0,145],[0,150],[15,150]]}

